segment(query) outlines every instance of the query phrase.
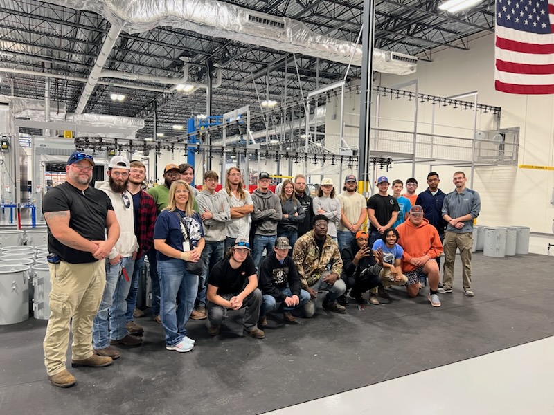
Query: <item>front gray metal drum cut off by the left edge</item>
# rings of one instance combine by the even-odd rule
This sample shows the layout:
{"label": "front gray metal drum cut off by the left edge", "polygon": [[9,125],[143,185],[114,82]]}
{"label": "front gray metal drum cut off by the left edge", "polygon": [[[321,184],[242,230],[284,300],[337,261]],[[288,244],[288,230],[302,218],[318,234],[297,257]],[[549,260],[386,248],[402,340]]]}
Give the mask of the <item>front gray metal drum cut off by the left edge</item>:
{"label": "front gray metal drum cut off by the left edge", "polygon": [[29,266],[0,265],[0,325],[29,318]]}

